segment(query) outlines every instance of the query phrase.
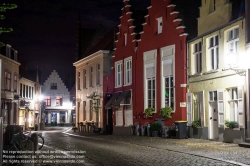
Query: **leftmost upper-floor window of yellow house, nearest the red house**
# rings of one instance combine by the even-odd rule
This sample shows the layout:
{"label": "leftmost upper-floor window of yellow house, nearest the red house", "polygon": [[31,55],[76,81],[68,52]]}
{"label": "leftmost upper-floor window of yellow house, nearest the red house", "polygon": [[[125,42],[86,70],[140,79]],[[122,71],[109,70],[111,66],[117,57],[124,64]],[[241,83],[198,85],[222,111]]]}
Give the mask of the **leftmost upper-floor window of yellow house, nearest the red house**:
{"label": "leftmost upper-floor window of yellow house, nearest the red house", "polygon": [[[197,46],[197,49],[196,49]],[[202,43],[201,42],[197,42],[193,45],[194,47],[194,70],[195,70],[195,74],[200,74],[202,71]]]}

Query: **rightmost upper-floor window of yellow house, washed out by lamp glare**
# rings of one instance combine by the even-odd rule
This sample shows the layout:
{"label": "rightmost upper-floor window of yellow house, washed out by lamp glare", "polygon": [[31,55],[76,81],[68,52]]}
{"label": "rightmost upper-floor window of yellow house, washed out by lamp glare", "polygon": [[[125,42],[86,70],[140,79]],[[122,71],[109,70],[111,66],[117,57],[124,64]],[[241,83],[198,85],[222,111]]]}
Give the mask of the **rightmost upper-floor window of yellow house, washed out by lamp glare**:
{"label": "rightmost upper-floor window of yellow house, washed out by lamp glare", "polygon": [[226,31],[226,66],[235,67],[239,61],[239,27],[234,27]]}

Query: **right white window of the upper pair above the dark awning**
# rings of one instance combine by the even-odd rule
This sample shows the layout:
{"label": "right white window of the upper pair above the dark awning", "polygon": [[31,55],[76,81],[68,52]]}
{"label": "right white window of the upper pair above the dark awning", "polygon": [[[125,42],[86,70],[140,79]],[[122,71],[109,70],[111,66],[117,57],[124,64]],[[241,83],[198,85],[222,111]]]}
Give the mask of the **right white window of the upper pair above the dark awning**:
{"label": "right white window of the upper pair above the dark awning", "polygon": [[124,59],[124,85],[132,84],[132,57]]}

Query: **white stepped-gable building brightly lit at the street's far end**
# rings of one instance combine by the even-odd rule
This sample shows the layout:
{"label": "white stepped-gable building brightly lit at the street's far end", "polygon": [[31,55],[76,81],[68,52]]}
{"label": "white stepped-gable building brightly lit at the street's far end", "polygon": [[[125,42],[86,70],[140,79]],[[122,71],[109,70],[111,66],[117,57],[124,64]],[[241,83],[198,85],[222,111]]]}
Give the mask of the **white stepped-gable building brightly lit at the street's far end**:
{"label": "white stepped-gable building brightly lit at the street's far end", "polygon": [[45,124],[69,125],[73,121],[74,107],[70,92],[58,73],[53,70],[42,86],[45,102]]}

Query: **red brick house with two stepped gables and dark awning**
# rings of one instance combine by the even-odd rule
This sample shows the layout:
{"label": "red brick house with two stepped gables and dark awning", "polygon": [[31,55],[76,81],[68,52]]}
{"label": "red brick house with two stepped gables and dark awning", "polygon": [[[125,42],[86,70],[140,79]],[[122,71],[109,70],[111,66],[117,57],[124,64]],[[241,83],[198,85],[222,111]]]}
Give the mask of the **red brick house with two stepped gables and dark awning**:
{"label": "red brick house with two stepped gables and dark awning", "polygon": [[[198,12],[195,2],[151,0],[147,9],[134,9],[124,0],[113,58],[114,93],[105,106],[113,110],[114,134],[129,134],[128,126],[136,122],[160,120],[171,126],[186,120],[186,28],[194,31],[191,36],[196,31],[186,26],[197,24],[197,15],[185,5]],[[184,18],[189,18],[187,25]],[[173,108],[171,119],[159,115],[166,106]],[[144,110],[150,107],[155,112],[146,118]]]}

